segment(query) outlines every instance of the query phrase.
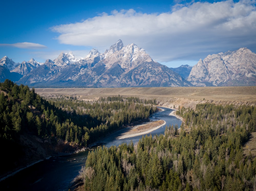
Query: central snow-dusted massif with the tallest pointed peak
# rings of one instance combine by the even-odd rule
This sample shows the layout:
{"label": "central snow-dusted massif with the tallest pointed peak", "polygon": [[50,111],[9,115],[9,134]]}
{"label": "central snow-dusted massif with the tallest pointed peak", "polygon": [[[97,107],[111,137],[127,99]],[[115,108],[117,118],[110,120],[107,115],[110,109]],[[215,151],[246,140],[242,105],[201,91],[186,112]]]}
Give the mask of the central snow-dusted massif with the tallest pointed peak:
{"label": "central snow-dusted massif with the tallest pointed peak", "polygon": [[154,61],[135,44],[123,46],[121,40],[104,54],[92,49],[79,61],[61,53],[24,75],[19,83],[35,86],[152,87],[191,86],[180,75]]}

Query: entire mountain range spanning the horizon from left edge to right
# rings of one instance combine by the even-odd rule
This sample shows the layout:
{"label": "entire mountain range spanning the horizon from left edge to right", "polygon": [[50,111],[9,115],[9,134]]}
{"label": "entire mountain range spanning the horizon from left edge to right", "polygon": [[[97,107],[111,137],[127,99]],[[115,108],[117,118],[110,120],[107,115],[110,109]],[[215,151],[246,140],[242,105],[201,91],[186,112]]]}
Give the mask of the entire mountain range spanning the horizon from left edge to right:
{"label": "entire mountain range spanning the horizon from left edge to right", "polygon": [[34,87],[178,87],[256,85],[256,54],[247,48],[208,55],[191,67],[168,68],[135,44],[121,40],[104,53],[92,49],[85,58],[72,52],[39,63],[0,60],[0,81]]}

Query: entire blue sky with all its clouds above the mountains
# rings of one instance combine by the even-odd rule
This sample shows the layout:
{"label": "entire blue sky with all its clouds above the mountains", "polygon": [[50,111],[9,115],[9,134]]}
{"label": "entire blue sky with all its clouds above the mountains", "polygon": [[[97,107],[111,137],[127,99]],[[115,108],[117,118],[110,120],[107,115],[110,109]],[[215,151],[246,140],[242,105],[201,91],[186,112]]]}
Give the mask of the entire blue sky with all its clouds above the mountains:
{"label": "entire blue sky with all its clouds above the mountains", "polygon": [[0,58],[21,63],[84,58],[119,39],[168,67],[195,65],[207,55],[247,47],[256,53],[256,2],[2,1]]}

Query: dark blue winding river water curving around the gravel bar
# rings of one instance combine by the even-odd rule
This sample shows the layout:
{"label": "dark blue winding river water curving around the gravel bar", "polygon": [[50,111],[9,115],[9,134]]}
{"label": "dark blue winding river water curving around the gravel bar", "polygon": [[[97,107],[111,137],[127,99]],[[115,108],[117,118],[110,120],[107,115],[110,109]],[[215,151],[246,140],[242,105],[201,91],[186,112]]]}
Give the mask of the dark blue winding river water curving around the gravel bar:
{"label": "dark blue winding river water curving around the gravel bar", "polygon": [[[166,121],[166,124],[147,135],[151,134],[153,136],[156,134],[163,134],[166,125],[169,126],[177,124],[180,127],[182,123],[180,119],[169,115],[173,111],[172,109],[165,107],[158,108],[163,109],[163,111],[154,113],[150,117],[150,120],[155,121],[162,119]],[[142,137],[142,135],[140,135],[131,138],[117,139],[116,137],[120,136],[120,134],[123,132],[123,130],[115,132],[97,144],[110,147],[112,145],[118,146],[122,143],[128,144],[131,142],[131,140],[134,144],[136,144]],[[85,164],[87,155],[88,150],[79,152],[77,154],[58,158],[52,157],[48,160],[44,160],[1,181],[0,189],[26,191],[66,191],[69,189],[69,187],[71,187],[71,182],[79,174],[82,165]]]}

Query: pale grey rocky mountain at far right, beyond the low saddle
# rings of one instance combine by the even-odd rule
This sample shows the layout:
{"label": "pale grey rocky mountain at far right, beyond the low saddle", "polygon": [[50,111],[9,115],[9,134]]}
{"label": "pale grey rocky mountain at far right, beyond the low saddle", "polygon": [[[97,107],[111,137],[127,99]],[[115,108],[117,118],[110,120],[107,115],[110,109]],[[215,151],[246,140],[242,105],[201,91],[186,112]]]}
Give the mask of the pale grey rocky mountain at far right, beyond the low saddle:
{"label": "pale grey rocky mountain at far right, beyond the low saddle", "polygon": [[256,54],[248,48],[208,55],[187,78],[196,86],[255,86]]}

